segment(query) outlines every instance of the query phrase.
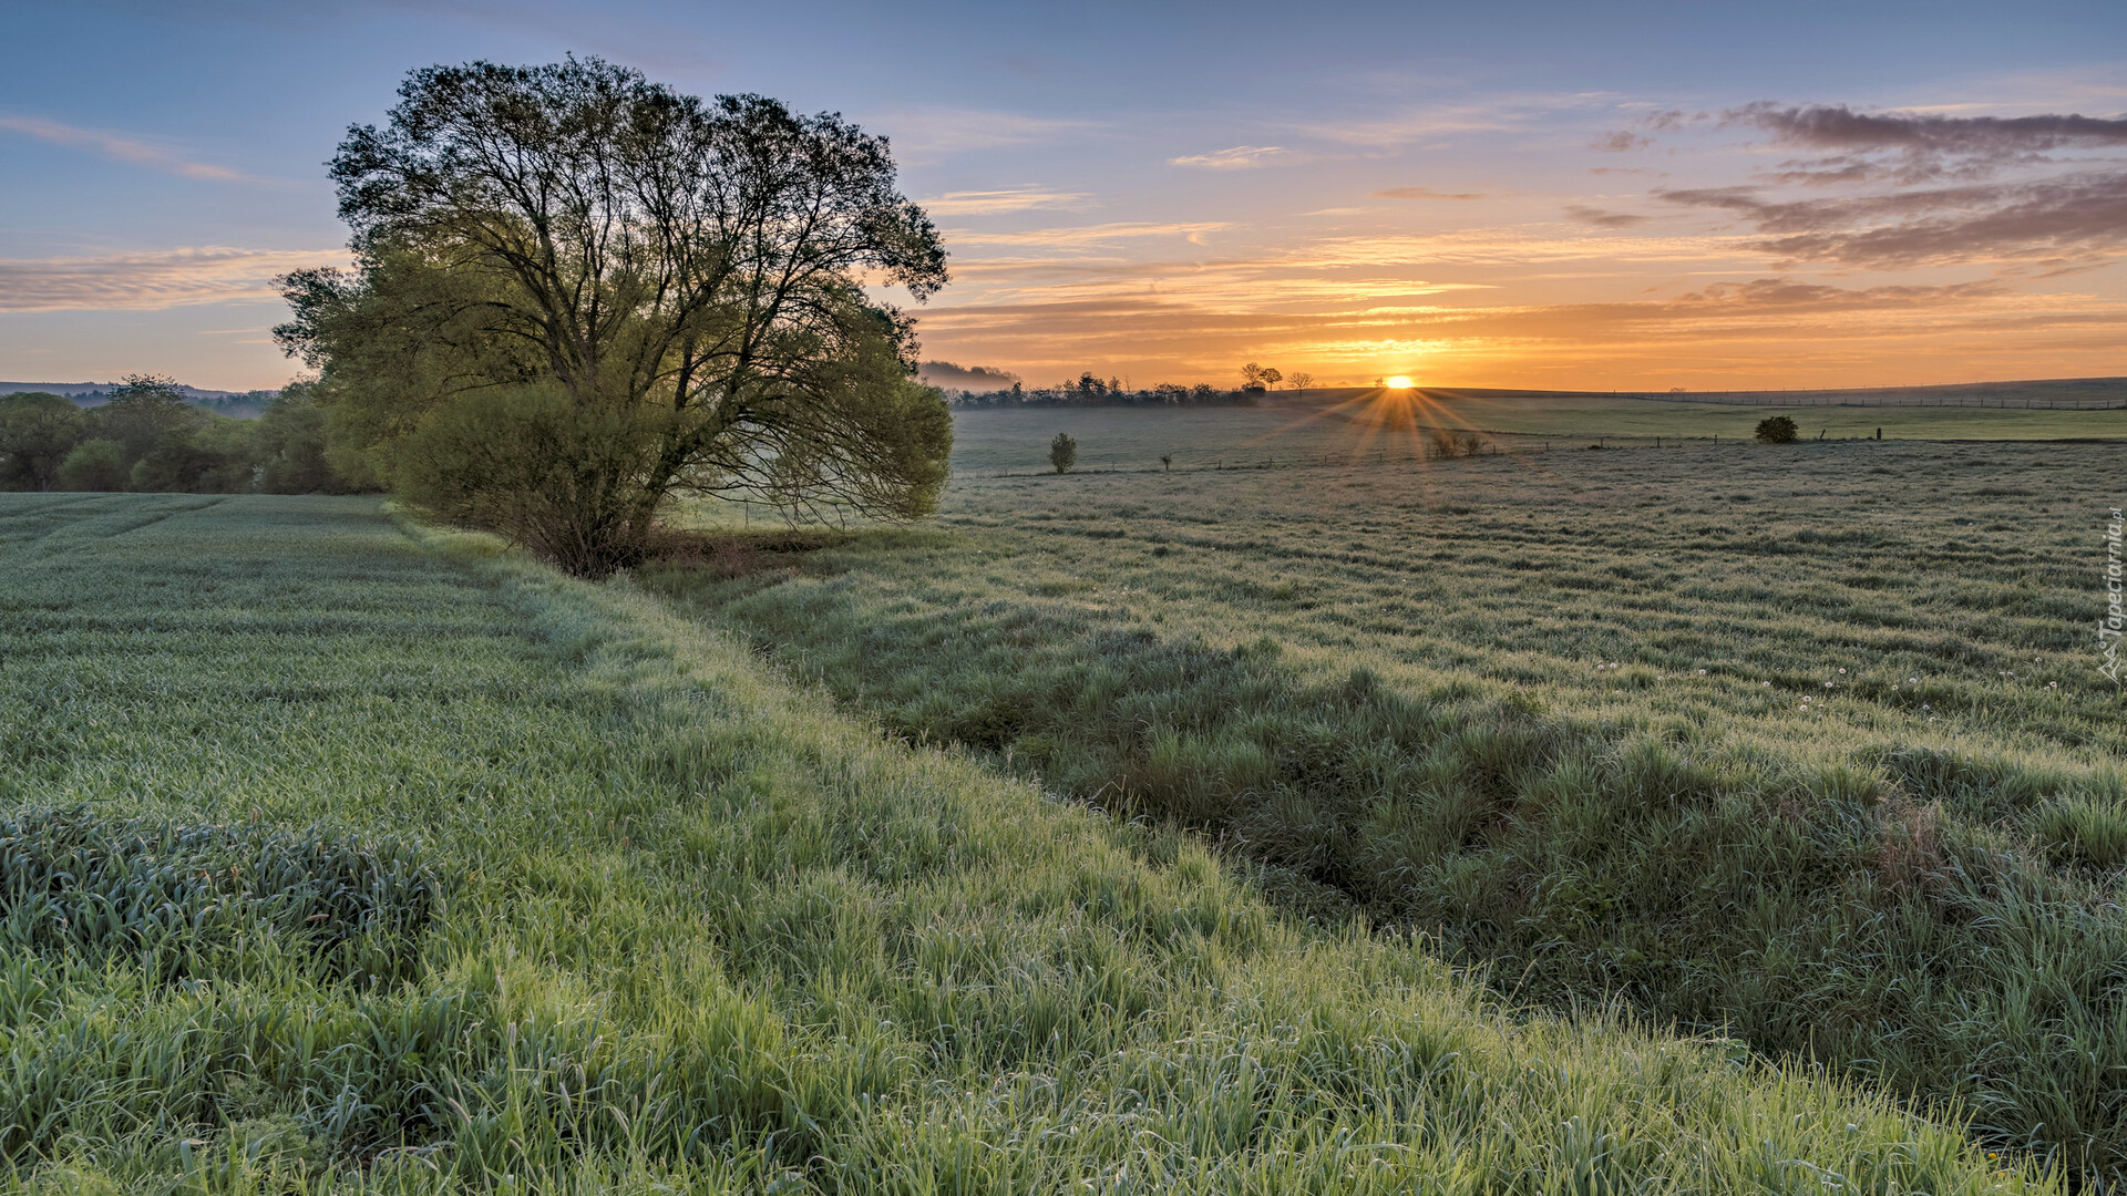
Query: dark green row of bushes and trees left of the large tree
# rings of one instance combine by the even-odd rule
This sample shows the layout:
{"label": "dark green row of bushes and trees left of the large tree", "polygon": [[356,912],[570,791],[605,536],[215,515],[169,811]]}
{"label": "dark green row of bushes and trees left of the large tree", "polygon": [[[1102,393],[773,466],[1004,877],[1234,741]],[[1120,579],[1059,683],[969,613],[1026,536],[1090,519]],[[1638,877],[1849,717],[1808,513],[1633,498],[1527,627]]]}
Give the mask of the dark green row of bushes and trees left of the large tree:
{"label": "dark green row of bushes and trees left of the large tree", "polygon": [[[83,398],[102,402],[83,406]],[[308,383],[272,394],[255,419],[234,419],[187,402],[172,379],[132,375],[98,396],[0,396],[0,489],[347,494],[353,487],[325,462],[325,413]]]}

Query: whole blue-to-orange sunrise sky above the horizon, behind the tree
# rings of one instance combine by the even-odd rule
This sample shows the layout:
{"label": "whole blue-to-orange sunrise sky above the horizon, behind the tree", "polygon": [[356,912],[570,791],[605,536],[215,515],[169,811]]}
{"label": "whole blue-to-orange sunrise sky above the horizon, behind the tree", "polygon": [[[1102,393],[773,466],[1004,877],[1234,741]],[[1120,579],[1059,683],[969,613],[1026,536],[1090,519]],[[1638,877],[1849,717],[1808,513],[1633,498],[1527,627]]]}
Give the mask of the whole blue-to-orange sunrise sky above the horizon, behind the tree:
{"label": "whole blue-to-orange sunrise sky above the horizon, behind the tree", "polygon": [[[408,70],[891,140],[923,358],[1051,385],[2127,375],[2127,4],[0,0],[0,379],[277,387]],[[885,296],[893,298],[893,296]],[[906,296],[902,296],[906,302]]]}

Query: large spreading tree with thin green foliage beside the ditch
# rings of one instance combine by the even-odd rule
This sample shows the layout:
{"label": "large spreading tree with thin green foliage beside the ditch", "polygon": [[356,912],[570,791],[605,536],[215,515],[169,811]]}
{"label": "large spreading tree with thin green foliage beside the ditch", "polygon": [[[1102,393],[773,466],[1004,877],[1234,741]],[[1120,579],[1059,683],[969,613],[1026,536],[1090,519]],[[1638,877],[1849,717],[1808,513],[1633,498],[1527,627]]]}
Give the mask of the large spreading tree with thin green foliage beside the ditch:
{"label": "large spreading tree with thin green foliage beside the ditch", "polygon": [[598,60],[474,62],[413,72],[332,177],[359,268],[289,275],[279,336],[323,370],[342,472],[583,575],[687,492],[936,504],[951,417],[866,287],[921,302],[944,249],[885,138]]}

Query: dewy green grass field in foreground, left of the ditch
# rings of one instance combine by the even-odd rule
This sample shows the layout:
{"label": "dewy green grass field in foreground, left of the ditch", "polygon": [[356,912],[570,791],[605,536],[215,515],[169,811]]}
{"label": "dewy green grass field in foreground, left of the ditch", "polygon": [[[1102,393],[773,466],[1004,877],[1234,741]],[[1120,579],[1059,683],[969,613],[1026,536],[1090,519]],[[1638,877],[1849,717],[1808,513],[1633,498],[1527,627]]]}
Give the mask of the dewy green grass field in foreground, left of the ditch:
{"label": "dewy green grass field in foreground, left of the ditch", "polygon": [[372,500],[0,496],[0,553],[9,1190],[2055,1190]]}

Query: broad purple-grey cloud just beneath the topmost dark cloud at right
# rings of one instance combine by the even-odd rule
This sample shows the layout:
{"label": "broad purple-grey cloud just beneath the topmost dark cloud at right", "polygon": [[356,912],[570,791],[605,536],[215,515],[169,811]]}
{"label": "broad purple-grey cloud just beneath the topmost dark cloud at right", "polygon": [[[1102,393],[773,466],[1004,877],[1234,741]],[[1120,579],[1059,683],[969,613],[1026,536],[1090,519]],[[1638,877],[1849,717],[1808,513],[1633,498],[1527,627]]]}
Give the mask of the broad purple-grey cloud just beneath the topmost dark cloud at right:
{"label": "broad purple-grey cloud just beneath the topmost dark cloud at right", "polygon": [[1874,268],[2029,262],[2059,270],[2127,249],[2127,172],[1789,202],[1757,187],[1655,196],[1734,211],[1770,234],[1759,249],[1793,262]]}

